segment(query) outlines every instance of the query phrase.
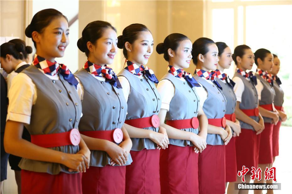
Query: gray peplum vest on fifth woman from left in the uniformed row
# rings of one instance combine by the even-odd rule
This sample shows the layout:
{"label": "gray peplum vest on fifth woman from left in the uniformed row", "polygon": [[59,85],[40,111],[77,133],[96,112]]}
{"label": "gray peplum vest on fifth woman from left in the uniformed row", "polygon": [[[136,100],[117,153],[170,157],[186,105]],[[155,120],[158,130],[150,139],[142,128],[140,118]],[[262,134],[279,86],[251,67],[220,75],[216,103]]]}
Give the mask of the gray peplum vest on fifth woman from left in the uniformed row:
{"label": "gray peplum vest on fifth woman from left in the uniformed row", "polygon": [[[208,97],[203,105],[203,111],[208,119],[212,118],[222,118],[226,113],[226,99],[222,91],[215,86],[215,84],[210,84],[207,80],[200,76],[194,75],[194,78],[203,85],[203,87],[208,92]],[[207,144],[210,145],[223,145],[224,142],[219,134],[208,134]]]}

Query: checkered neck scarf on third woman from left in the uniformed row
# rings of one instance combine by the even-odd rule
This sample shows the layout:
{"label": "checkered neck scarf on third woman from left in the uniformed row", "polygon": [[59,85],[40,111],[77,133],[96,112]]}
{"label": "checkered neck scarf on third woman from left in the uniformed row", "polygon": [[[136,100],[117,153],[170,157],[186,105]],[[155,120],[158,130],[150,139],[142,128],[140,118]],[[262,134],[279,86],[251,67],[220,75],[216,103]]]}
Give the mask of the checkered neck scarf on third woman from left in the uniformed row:
{"label": "checkered neck scarf on third woman from left in the uniformed row", "polygon": [[149,78],[149,80],[151,80],[154,83],[158,83],[158,79],[156,78],[156,76],[154,75],[154,72],[148,68],[148,66],[143,66],[141,65],[140,67],[135,64],[132,63],[129,60],[126,60],[125,63],[127,63],[127,67],[125,67],[126,70],[130,71],[132,74],[136,75],[136,76],[141,76],[144,75],[146,77]]}

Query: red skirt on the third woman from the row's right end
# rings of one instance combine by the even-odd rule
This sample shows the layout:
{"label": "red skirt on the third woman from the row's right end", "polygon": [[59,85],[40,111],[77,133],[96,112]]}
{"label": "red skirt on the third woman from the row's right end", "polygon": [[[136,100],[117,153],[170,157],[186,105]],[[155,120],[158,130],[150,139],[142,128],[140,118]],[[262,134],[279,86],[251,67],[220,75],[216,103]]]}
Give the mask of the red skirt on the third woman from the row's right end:
{"label": "red skirt on the third woman from the row's right end", "polygon": [[260,136],[252,129],[241,129],[235,140],[237,171],[242,170],[243,165],[250,169],[247,174],[251,174],[251,167],[257,168]]}

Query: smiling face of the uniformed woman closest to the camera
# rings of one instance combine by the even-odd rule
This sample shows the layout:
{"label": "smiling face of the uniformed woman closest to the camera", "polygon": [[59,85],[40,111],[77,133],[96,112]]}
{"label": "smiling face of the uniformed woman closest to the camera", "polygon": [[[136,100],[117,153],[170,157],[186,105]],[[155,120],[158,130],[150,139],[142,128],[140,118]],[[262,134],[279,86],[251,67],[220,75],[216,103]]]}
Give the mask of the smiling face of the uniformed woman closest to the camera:
{"label": "smiling face of the uniformed woman closest to the camera", "polygon": [[36,54],[47,60],[54,61],[55,57],[64,56],[69,44],[69,27],[64,17],[51,21],[41,33],[34,31],[32,37],[36,42]]}

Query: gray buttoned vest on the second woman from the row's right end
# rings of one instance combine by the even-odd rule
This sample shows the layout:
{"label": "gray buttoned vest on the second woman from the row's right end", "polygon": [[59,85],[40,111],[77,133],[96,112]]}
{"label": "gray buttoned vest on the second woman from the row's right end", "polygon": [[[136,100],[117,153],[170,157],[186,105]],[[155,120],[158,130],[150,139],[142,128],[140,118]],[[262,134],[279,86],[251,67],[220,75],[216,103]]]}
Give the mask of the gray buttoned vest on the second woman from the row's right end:
{"label": "gray buttoned vest on the second woman from the row's right end", "polygon": [[[263,85],[261,100],[259,102],[260,105],[272,104],[276,96],[273,86],[271,86],[269,82],[264,80],[260,75],[256,74],[256,76],[257,76],[257,79],[259,79]],[[265,123],[272,123],[273,121],[272,118],[268,118],[268,117],[262,117],[262,118],[264,119]]]}

